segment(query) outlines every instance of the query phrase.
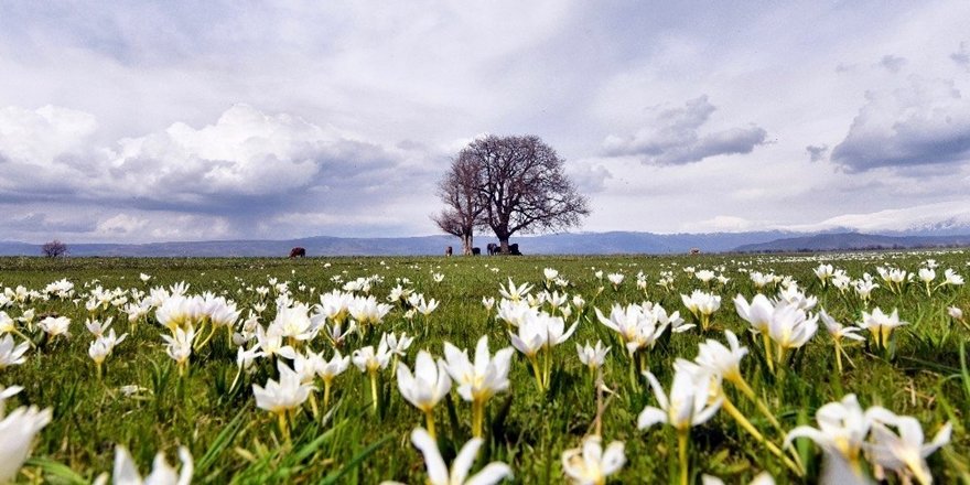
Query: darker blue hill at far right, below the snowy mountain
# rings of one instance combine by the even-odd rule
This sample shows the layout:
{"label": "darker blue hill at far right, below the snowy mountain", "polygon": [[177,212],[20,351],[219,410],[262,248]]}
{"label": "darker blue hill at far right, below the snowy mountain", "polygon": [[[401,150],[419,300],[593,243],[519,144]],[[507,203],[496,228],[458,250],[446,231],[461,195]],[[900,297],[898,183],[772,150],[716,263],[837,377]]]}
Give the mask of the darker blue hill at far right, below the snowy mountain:
{"label": "darker blue hill at far right, below the snowy mountain", "polygon": [[970,246],[970,235],[963,236],[883,236],[861,233],[830,233],[746,244],[734,248],[739,252],[834,251],[849,249],[914,249]]}

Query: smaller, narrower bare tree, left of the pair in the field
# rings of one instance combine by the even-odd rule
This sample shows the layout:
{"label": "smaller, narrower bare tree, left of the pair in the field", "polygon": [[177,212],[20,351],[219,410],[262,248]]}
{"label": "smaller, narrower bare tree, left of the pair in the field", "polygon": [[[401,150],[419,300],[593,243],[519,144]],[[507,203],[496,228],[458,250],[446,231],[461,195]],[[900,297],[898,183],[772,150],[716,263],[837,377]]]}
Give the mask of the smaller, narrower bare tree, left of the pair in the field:
{"label": "smaller, narrower bare tree, left of the pair in the field", "polygon": [[441,230],[462,240],[465,256],[472,254],[475,228],[483,224],[477,179],[477,164],[460,154],[438,184],[438,196],[445,208],[431,217]]}

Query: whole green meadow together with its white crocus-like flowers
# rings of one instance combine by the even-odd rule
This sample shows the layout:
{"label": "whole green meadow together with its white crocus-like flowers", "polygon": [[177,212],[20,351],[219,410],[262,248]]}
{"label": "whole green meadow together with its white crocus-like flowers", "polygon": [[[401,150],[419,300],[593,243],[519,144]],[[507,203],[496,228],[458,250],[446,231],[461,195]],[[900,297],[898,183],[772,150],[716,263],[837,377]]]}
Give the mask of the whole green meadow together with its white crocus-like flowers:
{"label": "whole green meadow together with its white crocus-like flowers", "polygon": [[962,250],[0,258],[0,429],[33,436],[0,483],[118,483],[125,453],[171,483],[970,483],[968,272]]}

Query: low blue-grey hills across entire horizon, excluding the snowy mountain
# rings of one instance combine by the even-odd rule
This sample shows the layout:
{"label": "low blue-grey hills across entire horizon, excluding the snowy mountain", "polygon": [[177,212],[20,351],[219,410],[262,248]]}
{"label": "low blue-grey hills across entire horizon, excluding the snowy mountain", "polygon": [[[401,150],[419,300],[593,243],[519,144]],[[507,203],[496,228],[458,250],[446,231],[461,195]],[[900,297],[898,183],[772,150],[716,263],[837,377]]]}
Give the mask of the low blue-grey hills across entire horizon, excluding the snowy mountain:
{"label": "low blue-grey hills across entire horizon, excluding the snowy mountain", "polygon": [[[476,245],[495,242],[482,237]],[[892,249],[970,246],[964,235],[870,235],[860,233],[804,234],[783,230],[751,233],[651,234],[579,233],[514,238],[526,255],[613,255],[702,252],[830,251],[845,249]],[[212,240],[149,244],[68,244],[69,255],[121,257],[279,257],[293,247],[308,256],[430,256],[442,255],[446,246],[460,251],[456,238],[449,236],[343,238],[309,237],[288,240]],[[0,241],[0,256],[37,256],[41,246]],[[484,252],[484,251],[483,251]]]}

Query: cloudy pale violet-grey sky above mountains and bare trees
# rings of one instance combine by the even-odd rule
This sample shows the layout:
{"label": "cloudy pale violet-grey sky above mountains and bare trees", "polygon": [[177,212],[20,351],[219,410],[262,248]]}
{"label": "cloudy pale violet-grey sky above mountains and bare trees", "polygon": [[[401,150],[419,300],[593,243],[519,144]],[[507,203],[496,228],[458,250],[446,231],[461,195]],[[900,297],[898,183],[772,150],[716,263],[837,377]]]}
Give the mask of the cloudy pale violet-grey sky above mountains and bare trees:
{"label": "cloudy pale violet-grey sky above mountains and bare trees", "polygon": [[967,1],[0,0],[0,240],[432,235],[484,134],[554,148],[583,231],[968,212],[967,25]]}

